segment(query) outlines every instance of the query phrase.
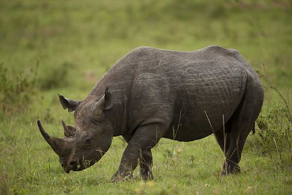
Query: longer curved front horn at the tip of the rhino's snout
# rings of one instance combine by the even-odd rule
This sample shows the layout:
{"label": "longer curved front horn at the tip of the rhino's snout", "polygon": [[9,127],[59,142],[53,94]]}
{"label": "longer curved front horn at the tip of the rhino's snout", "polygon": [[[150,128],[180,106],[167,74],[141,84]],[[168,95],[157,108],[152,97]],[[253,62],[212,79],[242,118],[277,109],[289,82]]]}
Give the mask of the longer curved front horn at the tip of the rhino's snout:
{"label": "longer curved front horn at the tip of the rhino's snout", "polygon": [[41,125],[40,120],[37,120],[37,126],[41,133],[41,135],[44,137],[44,139],[48,142],[48,144],[52,147],[54,152],[59,156],[68,156],[70,155],[70,149],[68,146],[68,141],[64,138],[56,138],[56,137],[50,137],[49,134],[44,130],[44,128]]}

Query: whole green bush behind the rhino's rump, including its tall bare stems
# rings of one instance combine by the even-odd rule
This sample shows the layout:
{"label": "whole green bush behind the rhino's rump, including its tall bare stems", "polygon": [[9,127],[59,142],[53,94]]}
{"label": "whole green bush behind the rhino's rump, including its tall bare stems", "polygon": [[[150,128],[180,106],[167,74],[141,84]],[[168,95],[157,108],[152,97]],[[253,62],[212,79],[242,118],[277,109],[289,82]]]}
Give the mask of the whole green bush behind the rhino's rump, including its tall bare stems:
{"label": "whole green bush behind the rhino's rump, including its tall bare stems", "polygon": [[[263,65],[264,71],[265,66]],[[276,168],[292,171],[292,115],[289,107],[288,90],[287,98],[276,88],[267,77],[255,68],[257,74],[264,81],[266,89],[274,91],[279,101],[266,103],[257,119],[258,130],[254,141],[256,148],[263,155],[270,157]]]}

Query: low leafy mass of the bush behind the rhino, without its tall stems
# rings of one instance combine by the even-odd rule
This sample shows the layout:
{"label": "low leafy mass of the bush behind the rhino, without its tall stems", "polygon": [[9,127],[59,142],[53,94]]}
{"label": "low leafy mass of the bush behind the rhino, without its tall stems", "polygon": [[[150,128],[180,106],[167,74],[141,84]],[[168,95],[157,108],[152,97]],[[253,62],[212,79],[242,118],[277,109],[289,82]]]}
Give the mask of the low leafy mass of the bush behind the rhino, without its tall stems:
{"label": "low leafy mass of the bush behind the rhino, without its tall stems", "polygon": [[288,110],[280,103],[265,107],[266,112],[257,119],[255,146],[274,164],[292,171],[292,123]]}

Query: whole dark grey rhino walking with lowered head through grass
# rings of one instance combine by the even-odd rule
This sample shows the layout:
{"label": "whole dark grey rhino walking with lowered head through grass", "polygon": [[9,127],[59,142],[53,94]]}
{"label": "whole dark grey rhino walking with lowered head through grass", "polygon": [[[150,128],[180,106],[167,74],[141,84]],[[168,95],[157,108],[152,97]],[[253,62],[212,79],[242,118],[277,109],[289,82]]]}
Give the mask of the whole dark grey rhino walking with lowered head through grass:
{"label": "whole dark grey rhino walking with lowered head through grass", "polygon": [[64,109],[75,111],[74,127],[62,122],[65,137],[54,138],[38,125],[65,172],[93,165],[108,151],[112,137],[123,136],[128,146],[112,177],[119,181],[131,179],[138,163],[141,176],[152,178],[151,149],[162,137],[193,141],[214,132],[226,156],[221,174],[239,172],[264,93],[257,74],[236,50],[212,45],[191,52],[136,48],[84,100],[59,98]]}

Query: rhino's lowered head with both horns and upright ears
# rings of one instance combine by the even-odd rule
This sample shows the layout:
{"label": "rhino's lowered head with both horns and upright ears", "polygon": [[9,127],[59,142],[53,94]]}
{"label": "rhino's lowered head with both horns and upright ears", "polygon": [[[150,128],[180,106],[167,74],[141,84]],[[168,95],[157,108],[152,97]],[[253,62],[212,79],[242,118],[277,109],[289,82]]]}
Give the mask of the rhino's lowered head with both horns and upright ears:
{"label": "rhino's lowered head with both horns and upright ears", "polygon": [[40,120],[37,120],[37,125],[41,135],[59,156],[64,171],[81,171],[97,162],[110,148],[114,128],[110,122],[112,94],[107,88],[98,101],[76,101],[58,96],[64,109],[75,111],[75,125],[67,126],[62,121],[63,138],[49,136]]}

